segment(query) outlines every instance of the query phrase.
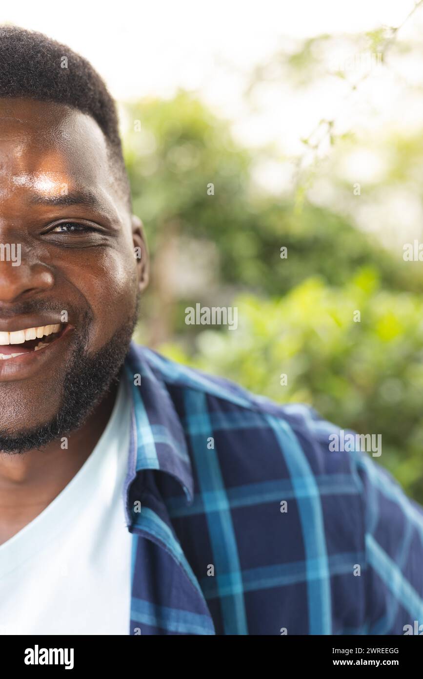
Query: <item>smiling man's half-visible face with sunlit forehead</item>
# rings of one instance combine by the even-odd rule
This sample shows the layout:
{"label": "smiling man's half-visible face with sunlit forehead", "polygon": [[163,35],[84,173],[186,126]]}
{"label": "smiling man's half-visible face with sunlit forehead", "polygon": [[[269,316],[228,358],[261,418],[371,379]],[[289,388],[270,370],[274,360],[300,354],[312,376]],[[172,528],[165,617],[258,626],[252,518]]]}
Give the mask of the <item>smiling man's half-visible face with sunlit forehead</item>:
{"label": "smiling man's half-visible face with sunlit forehead", "polygon": [[[64,105],[0,98],[0,435],[57,416],[79,355],[89,368],[114,343],[102,369],[115,369],[142,285],[134,242],[143,246],[96,122]],[[25,344],[3,334],[47,325],[50,335]]]}

